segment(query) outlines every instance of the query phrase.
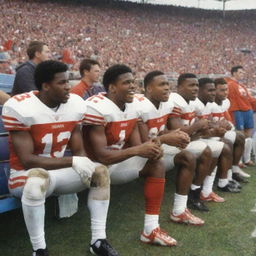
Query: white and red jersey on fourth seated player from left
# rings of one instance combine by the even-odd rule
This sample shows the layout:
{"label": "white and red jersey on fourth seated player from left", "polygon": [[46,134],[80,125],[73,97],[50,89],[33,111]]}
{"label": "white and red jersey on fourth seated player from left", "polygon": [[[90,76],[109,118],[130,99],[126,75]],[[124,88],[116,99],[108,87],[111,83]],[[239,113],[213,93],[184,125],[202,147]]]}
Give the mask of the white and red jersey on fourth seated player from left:
{"label": "white and red jersey on fourth seated player from left", "polygon": [[183,125],[191,125],[195,122],[195,107],[187,102],[178,93],[171,93],[169,100],[170,105],[173,105],[171,116],[179,117],[182,120]]}

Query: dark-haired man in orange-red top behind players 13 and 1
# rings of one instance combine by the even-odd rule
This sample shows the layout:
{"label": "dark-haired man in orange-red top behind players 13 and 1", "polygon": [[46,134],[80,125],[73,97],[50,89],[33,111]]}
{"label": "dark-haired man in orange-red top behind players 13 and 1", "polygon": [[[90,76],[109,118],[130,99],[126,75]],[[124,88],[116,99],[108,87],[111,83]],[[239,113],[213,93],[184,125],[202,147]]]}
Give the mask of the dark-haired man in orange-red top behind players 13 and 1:
{"label": "dark-haired man in orange-red top behind players 13 and 1", "polygon": [[105,91],[102,86],[95,84],[99,82],[100,77],[100,64],[98,61],[92,59],[82,60],[79,71],[81,81],[71,89],[72,93],[86,100],[92,95]]}

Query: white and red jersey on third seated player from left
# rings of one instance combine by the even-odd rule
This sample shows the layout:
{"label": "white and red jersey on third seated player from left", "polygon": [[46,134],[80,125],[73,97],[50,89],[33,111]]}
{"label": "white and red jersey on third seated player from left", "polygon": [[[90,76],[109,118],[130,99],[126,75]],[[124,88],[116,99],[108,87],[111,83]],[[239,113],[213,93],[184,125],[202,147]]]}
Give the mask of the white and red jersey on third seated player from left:
{"label": "white and red jersey on third seated player from left", "polygon": [[156,137],[166,127],[166,122],[173,110],[173,105],[168,102],[160,102],[159,108],[143,95],[136,95],[133,103],[140,119],[147,124],[149,138]]}

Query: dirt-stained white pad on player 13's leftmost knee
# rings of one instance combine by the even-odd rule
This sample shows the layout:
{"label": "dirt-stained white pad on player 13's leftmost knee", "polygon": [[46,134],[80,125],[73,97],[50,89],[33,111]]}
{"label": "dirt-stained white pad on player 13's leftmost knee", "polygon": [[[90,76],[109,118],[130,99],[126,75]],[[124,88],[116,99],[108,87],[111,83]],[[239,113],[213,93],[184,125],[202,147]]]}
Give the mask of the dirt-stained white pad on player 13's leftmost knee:
{"label": "dirt-stained white pad on player 13's leftmost knee", "polygon": [[49,173],[46,170],[42,168],[28,170],[28,179],[24,186],[23,196],[32,201],[44,200],[49,181]]}

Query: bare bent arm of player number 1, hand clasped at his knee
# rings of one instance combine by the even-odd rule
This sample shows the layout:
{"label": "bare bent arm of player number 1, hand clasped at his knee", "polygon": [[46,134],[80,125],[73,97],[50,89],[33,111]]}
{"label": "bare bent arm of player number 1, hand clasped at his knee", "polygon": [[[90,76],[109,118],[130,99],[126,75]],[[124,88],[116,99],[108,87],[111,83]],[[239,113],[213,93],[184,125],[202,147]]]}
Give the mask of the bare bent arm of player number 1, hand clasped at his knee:
{"label": "bare bent arm of player number 1, hand clasped at his knee", "polygon": [[136,134],[136,132],[133,132],[133,134],[130,137],[130,147],[120,150],[112,150],[107,148],[107,138],[105,135],[104,126],[90,126],[87,130],[87,136],[89,136],[90,138],[90,144],[93,148],[94,155],[97,157],[97,160],[105,165],[115,164],[133,156],[154,158],[158,156],[160,152],[159,146],[157,146],[153,142],[132,146],[136,144],[138,141],[140,141],[140,136],[138,133]]}

